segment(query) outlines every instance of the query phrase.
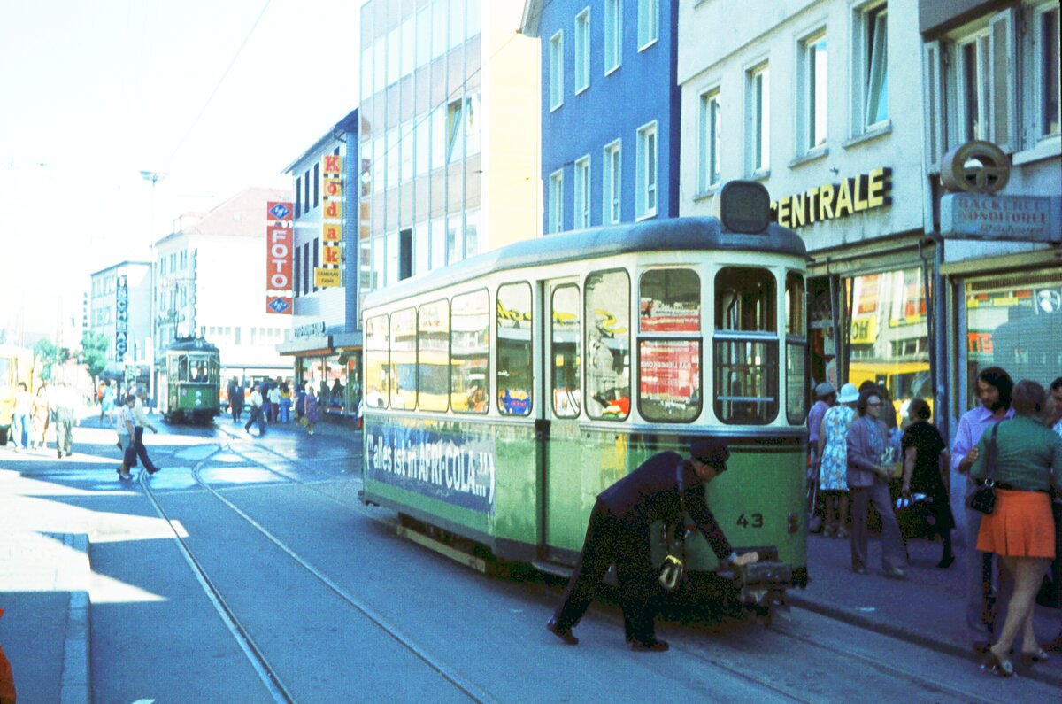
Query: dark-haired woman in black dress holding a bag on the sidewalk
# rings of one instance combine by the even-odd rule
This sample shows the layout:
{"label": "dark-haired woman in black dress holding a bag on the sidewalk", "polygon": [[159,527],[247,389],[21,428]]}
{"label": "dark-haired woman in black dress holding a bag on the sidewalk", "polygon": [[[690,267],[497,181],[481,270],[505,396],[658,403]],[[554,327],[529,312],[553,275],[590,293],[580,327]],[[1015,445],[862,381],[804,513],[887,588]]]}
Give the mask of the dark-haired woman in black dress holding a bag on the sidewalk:
{"label": "dark-haired woman in black dress holding a bag on the sidewalk", "polygon": [[[950,462],[947,445],[937,426],[929,422],[932,409],[923,399],[911,399],[907,406],[910,425],[904,433],[904,484],[901,496],[910,499],[911,493],[924,493],[929,498],[929,516],[932,518],[932,533],[939,533],[944,543],[937,567],[952,566],[952,515]],[[930,534],[930,535],[931,535]]]}

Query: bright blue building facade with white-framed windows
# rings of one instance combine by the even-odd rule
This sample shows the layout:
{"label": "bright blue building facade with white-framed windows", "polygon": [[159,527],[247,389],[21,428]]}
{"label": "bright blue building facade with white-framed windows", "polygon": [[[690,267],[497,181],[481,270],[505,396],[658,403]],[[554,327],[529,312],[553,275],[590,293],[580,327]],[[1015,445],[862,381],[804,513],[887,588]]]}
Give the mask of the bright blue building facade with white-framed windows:
{"label": "bright blue building facade with white-framed windows", "polygon": [[678,0],[527,0],[543,232],[679,215]]}

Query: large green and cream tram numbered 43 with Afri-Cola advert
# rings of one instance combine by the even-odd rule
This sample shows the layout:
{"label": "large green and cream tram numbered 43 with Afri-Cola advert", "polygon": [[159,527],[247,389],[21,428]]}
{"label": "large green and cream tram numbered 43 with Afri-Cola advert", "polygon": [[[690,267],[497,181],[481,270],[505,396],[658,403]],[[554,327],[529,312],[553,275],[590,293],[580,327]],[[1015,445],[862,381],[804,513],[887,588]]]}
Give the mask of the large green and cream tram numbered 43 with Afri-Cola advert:
{"label": "large green and cream tram numbered 43 with Afri-Cola advert", "polygon": [[[806,586],[806,250],[761,185],[720,198],[721,219],[549,235],[367,296],[362,500],[481,569],[565,573],[601,490],[719,437],[708,505],[785,574],[739,599]],[[695,579],[718,568],[699,534],[685,551]]]}

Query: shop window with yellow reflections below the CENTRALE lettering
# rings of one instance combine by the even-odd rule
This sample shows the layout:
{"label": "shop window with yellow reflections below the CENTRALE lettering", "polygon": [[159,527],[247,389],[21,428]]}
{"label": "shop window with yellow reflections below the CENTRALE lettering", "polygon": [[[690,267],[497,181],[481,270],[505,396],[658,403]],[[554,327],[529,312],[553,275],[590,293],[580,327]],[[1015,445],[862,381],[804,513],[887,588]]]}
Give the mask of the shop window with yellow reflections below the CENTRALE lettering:
{"label": "shop window with yellow reflections below the CENTRALE lettering", "polygon": [[[845,280],[849,296],[849,379],[877,384],[902,424],[911,399],[932,402],[926,291],[921,268]],[[883,415],[887,423],[890,418]],[[891,424],[891,423],[889,423]]]}

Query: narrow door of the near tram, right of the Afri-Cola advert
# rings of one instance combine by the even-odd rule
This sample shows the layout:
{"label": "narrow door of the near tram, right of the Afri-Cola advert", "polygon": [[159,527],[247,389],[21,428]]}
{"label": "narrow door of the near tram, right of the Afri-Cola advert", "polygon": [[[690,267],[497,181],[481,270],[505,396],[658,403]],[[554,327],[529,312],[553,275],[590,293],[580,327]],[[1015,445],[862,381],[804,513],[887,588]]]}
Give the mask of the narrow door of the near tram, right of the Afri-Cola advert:
{"label": "narrow door of the near tram, right of the Afri-Cola advert", "polygon": [[[586,517],[582,510],[582,296],[578,279],[546,282],[543,321],[544,556],[563,560],[582,549]],[[560,549],[560,551],[558,551]]]}

